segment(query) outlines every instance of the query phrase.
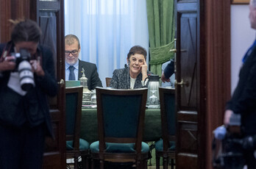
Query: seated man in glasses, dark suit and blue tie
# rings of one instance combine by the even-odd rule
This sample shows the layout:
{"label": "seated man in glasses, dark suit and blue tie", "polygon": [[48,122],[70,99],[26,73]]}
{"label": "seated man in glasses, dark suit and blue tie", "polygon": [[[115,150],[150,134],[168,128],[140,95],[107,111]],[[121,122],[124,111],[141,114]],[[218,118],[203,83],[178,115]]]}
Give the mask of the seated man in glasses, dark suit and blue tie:
{"label": "seated man in glasses, dark suit and blue tie", "polygon": [[78,59],[80,53],[80,43],[76,35],[65,36],[65,80],[79,80],[82,77],[82,68],[88,78],[88,89],[102,87],[96,65]]}

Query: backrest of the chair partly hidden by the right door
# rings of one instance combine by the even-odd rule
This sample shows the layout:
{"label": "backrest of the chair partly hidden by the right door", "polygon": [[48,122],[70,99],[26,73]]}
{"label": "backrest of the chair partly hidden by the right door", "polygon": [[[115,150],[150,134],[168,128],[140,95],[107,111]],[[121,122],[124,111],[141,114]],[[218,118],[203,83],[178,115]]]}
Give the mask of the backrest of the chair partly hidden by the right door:
{"label": "backrest of the chair partly hidden by the right door", "polygon": [[163,150],[166,150],[166,148],[168,148],[169,141],[175,141],[175,89],[159,87],[159,96],[164,148]]}

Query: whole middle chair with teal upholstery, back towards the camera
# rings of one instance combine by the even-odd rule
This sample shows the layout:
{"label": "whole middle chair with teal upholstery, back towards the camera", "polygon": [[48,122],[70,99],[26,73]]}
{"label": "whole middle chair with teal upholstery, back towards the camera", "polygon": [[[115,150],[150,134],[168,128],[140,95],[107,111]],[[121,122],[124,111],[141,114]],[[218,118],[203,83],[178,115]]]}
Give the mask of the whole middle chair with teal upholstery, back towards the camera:
{"label": "whole middle chair with teal upholstery, back towards the camera", "polygon": [[92,169],[95,159],[134,162],[146,168],[149,145],[142,142],[147,89],[118,90],[96,87],[99,141],[90,144]]}

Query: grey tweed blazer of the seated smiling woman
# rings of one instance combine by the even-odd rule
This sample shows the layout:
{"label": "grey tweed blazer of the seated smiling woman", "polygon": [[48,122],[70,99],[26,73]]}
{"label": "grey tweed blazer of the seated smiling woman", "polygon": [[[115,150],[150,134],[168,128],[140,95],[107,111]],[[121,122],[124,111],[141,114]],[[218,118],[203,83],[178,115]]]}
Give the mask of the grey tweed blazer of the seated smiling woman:
{"label": "grey tweed blazer of the seated smiling woman", "polygon": [[[152,74],[151,72],[147,71],[148,76],[149,74]],[[142,74],[139,73],[136,77],[134,89],[143,87],[142,83]],[[129,89],[130,88],[130,76],[129,76],[129,68],[121,68],[121,69],[115,69],[113,71],[113,77],[110,81],[110,87],[113,87],[115,89]]]}

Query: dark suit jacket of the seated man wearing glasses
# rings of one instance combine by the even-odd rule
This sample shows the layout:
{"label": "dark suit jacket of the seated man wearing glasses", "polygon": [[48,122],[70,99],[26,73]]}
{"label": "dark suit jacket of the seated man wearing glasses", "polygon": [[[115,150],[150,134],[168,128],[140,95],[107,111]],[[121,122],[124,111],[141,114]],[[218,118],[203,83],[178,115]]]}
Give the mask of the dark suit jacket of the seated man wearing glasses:
{"label": "dark suit jacket of the seated man wearing glasses", "polygon": [[85,76],[88,78],[88,89],[93,90],[95,87],[102,87],[102,81],[99,79],[97,67],[91,62],[79,60],[78,63],[78,79],[82,77],[82,68],[85,69]]}

